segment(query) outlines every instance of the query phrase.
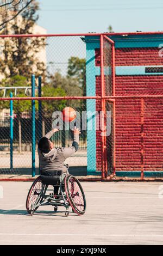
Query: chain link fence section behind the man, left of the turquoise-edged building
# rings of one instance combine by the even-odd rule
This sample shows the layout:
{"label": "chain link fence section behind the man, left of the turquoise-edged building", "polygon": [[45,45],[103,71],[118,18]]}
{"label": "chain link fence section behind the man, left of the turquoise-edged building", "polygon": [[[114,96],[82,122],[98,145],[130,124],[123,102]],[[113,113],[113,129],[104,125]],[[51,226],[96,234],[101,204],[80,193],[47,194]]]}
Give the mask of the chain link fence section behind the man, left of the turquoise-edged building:
{"label": "chain link fence section behind the man, left of the turquoise-edged building", "polygon": [[[0,38],[1,68],[0,96],[32,96],[31,75],[41,76],[41,96],[85,96],[86,95],[86,44],[84,36],[18,36]],[[39,96],[39,82],[35,81],[35,96]],[[31,174],[32,167],[32,102],[13,101],[13,167],[10,166],[10,111],[9,101],[0,102],[0,157],[1,174]],[[35,145],[41,136],[52,129],[54,111],[71,106],[80,114],[86,111],[86,100],[35,101]],[[40,123],[41,120],[41,123]],[[77,123],[80,123],[77,121]],[[72,144],[72,132],[59,131],[51,139],[55,147]],[[79,167],[86,173],[87,136],[80,136],[79,150],[67,160],[71,167]],[[36,174],[39,160],[35,153]],[[82,168],[80,168],[82,167]]]}

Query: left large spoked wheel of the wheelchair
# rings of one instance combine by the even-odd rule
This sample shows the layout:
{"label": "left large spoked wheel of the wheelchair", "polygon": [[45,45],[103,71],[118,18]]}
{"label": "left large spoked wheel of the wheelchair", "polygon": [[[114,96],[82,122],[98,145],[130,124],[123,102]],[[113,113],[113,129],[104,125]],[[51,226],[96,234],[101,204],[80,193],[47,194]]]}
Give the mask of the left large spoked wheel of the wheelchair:
{"label": "left large spoked wheel of the wheelchair", "polygon": [[30,187],[30,190],[28,192],[27,200],[26,200],[26,209],[28,214],[30,214],[31,211],[35,211],[39,208],[37,206],[34,208],[34,205],[36,203],[39,203],[41,200],[41,190],[42,190],[42,182],[40,176],[35,179],[32,186]]}

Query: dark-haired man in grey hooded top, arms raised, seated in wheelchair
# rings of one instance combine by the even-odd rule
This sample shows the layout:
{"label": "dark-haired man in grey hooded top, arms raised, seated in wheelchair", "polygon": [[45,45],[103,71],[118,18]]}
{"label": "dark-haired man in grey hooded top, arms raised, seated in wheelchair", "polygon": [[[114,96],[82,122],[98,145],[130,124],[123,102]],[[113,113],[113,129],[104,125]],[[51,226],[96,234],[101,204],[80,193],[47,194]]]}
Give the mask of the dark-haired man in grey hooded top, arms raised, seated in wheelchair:
{"label": "dark-haired man in grey hooded top, arms raised, seated in wheelchair", "polygon": [[[38,154],[41,175],[54,175],[55,171],[62,171],[62,184],[64,184],[64,178],[68,174],[68,168],[64,164],[67,157],[74,154],[79,147],[79,135],[80,131],[77,127],[73,130],[73,142],[70,147],[55,148],[54,144],[50,141],[53,133],[59,131],[58,129],[53,129],[49,131],[44,137],[42,137],[38,144]],[[54,195],[57,196],[59,187],[54,186]]]}

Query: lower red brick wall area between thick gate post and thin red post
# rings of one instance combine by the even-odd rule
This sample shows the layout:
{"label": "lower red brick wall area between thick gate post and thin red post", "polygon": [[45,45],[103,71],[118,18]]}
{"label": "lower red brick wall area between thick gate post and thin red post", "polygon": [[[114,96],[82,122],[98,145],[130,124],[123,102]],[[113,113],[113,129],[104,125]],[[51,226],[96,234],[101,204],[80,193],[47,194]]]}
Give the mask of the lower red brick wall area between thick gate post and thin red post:
{"label": "lower red brick wall area between thick gate post and thin red post", "polygon": [[140,100],[116,100],[116,170],[140,170]]}

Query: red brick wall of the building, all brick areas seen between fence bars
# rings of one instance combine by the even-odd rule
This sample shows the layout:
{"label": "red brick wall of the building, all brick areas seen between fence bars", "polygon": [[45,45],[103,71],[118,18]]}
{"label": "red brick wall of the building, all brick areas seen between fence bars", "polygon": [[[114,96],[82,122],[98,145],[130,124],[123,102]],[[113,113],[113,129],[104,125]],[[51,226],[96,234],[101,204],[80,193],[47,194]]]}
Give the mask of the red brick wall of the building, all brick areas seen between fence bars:
{"label": "red brick wall of the building, all brick areas seen between fence bars", "polygon": [[[116,49],[116,66],[162,65],[158,48]],[[96,65],[100,65],[96,50]],[[163,76],[116,76],[116,95],[163,94]],[[96,77],[96,95],[101,95],[100,77]],[[101,110],[97,101],[96,108]],[[141,105],[140,99],[116,100],[116,170],[141,168]],[[145,170],[163,170],[163,99],[145,100],[144,163]],[[101,169],[101,136],[96,134],[97,170]]]}

